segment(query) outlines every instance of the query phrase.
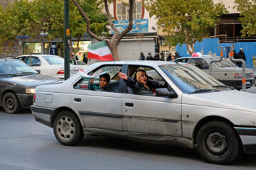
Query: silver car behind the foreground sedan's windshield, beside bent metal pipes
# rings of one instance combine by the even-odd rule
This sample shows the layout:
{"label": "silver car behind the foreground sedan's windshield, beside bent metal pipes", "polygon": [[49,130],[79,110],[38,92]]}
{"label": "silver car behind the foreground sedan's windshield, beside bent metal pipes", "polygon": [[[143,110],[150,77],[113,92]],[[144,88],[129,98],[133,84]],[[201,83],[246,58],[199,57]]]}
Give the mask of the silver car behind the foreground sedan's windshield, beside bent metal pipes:
{"label": "silver car behind the foreground sedan's windshield, beside bent metal pipes", "polygon": [[[196,67],[209,74],[210,60],[216,60],[218,57],[203,55],[202,57],[181,57],[174,62],[186,62],[196,65]],[[246,72],[246,88],[250,88],[255,84],[253,69],[245,69]],[[242,89],[242,68],[235,65],[230,59],[223,58],[221,62],[213,62],[212,77],[215,77],[227,86],[233,86],[235,89]]]}

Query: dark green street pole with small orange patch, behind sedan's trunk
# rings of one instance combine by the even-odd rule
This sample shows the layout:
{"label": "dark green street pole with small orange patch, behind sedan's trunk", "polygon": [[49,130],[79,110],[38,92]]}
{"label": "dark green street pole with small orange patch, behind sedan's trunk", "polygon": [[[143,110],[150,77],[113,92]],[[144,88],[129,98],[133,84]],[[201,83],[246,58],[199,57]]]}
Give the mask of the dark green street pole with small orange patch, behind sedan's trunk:
{"label": "dark green street pole with small orange patch, behind sedan's trunk", "polygon": [[64,79],[70,77],[69,0],[64,0]]}

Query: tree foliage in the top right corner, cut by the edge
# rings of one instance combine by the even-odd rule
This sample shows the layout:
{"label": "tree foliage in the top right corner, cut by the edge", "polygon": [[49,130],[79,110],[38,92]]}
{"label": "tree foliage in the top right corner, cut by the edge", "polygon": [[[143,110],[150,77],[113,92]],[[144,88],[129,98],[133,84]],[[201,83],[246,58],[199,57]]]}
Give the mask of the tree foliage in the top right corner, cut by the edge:
{"label": "tree foliage in the top right corner, cut by the edge", "polygon": [[239,21],[242,23],[242,37],[256,35],[256,1],[235,0],[235,6],[240,11]]}

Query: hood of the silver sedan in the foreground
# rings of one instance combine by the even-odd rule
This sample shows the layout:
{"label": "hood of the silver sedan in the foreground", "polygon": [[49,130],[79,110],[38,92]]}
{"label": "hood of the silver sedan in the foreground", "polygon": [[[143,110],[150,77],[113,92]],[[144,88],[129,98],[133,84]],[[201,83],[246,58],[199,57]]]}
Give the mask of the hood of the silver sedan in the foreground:
{"label": "hood of the silver sedan in the foreground", "polygon": [[182,103],[256,113],[256,94],[237,90],[183,94]]}

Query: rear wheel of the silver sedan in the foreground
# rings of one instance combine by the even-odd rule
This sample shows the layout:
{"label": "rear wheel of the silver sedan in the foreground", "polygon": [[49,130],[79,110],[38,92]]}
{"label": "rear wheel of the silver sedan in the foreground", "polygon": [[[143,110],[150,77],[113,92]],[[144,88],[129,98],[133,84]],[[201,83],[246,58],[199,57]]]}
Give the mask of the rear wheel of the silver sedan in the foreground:
{"label": "rear wheel of the silver sedan in the foreground", "polygon": [[78,118],[70,111],[61,111],[53,122],[53,132],[62,145],[77,145],[83,137]]}

